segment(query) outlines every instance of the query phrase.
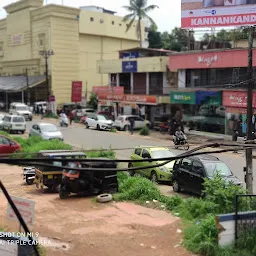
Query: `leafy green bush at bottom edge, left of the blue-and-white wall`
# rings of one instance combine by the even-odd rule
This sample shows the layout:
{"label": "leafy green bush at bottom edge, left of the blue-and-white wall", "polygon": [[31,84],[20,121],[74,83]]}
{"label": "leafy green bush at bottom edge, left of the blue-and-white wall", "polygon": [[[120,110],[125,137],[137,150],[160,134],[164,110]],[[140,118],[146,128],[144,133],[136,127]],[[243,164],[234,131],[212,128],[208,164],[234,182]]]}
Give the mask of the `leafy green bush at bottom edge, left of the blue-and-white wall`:
{"label": "leafy green bush at bottom edge, left of the blue-and-white wall", "polygon": [[217,236],[215,217],[211,215],[184,230],[184,245],[193,253],[215,256]]}

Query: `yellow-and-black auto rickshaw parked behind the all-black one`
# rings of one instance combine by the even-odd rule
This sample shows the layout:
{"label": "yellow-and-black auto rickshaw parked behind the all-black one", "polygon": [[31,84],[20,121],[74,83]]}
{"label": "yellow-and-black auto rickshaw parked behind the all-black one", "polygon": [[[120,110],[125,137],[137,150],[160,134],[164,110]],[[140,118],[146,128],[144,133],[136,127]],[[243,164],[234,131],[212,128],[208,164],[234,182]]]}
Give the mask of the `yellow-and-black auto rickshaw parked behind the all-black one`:
{"label": "yellow-and-black auto rickshaw parked behind the all-black one", "polygon": [[[38,157],[44,159],[56,159],[56,161],[49,161],[49,163],[54,166],[66,166],[67,163],[58,161],[58,159],[84,159],[86,158],[86,154],[83,152],[72,152],[70,150],[42,150],[39,152]],[[57,192],[62,181],[62,173],[63,170],[60,168],[36,167],[35,183],[37,188],[43,189],[45,186],[52,192]]]}

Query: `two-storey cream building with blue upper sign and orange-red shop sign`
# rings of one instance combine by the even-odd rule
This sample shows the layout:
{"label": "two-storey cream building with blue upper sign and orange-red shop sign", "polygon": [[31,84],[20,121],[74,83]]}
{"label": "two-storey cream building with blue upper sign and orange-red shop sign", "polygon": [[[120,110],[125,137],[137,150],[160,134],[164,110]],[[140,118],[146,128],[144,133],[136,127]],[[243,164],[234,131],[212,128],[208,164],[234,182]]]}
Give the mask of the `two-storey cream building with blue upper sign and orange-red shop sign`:
{"label": "two-storey cream building with blue upper sign and orange-red shop sign", "polygon": [[[177,88],[177,72],[168,69],[171,51],[132,48],[120,51],[119,59],[98,61],[100,74],[107,74],[113,91],[100,93],[101,107],[112,106],[117,114],[139,113],[150,121],[170,113],[169,94]],[[120,91],[120,87],[122,91]]]}

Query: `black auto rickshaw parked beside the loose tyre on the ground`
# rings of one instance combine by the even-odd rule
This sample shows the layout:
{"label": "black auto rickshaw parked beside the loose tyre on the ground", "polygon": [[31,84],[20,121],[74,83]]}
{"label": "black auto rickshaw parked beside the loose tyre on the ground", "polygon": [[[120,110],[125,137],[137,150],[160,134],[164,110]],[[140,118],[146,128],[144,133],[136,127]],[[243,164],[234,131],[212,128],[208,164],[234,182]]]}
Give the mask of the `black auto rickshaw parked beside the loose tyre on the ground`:
{"label": "black auto rickshaw parked beside the loose tyre on the ground", "polygon": [[[95,158],[109,160],[108,158]],[[95,195],[101,193],[118,192],[117,171],[108,171],[109,168],[116,169],[117,163],[108,162],[76,162],[68,163],[71,168],[92,168],[91,171],[76,171],[65,169],[59,189],[59,196],[65,199],[69,194]],[[94,172],[93,168],[106,169],[102,172]]]}

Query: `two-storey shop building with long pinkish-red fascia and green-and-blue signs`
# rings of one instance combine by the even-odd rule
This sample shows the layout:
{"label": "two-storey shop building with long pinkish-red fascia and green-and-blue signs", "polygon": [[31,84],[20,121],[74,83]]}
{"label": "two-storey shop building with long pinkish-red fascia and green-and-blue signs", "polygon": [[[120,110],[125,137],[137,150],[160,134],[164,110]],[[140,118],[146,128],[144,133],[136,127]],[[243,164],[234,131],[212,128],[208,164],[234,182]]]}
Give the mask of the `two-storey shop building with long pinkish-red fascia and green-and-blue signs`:
{"label": "two-storey shop building with long pinkish-red fascia and green-and-blue signs", "polygon": [[[169,69],[178,71],[179,79],[170,93],[172,108],[182,111],[193,129],[232,134],[234,122],[241,120],[240,134],[245,134],[247,66],[244,48],[173,53]],[[253,67],[255,77],[256,49]],[[256,93],[253,97],[256,103]]]}

